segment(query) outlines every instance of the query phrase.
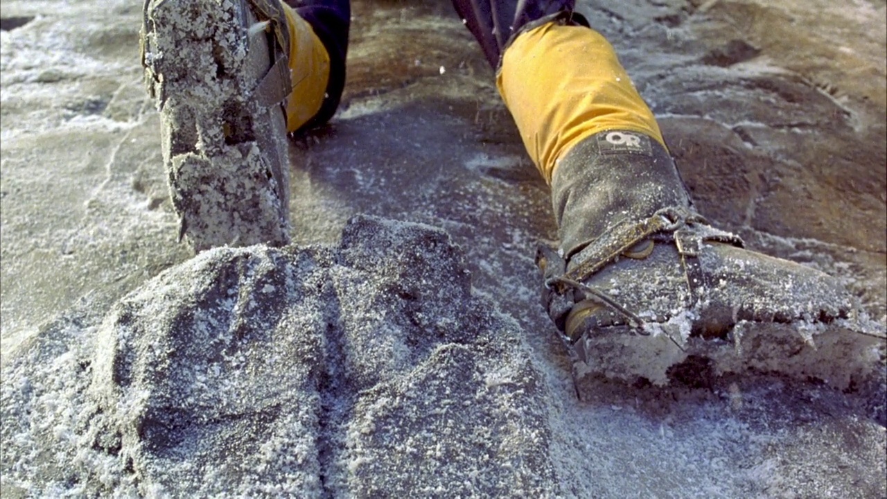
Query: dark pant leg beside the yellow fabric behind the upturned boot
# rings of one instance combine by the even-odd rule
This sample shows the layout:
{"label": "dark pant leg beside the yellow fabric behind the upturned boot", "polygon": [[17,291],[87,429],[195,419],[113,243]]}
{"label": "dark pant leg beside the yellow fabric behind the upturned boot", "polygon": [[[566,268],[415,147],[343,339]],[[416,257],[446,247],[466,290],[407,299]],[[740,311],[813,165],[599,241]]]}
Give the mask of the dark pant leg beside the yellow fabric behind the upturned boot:
{"label": "dark pant leg beside the yellow fabric behind the upturned boot", "polygon": [[330,75],[326,83],[326,98],[318,114],[302,126],[301,130],[307,130],[326,123],[339,107],[341,91],[345,88],[345,58],[348,54],[351,3],[349,0],[285,1],[295,9],[295,12],[303,20],[308,21],[330,57]]}

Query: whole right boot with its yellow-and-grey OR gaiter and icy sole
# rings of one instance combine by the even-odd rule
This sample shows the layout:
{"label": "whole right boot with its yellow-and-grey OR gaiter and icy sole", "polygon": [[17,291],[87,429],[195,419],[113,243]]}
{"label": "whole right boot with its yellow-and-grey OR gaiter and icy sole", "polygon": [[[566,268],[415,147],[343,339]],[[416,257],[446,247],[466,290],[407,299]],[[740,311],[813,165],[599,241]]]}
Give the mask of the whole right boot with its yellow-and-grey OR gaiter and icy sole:
{"label": "whole right boot with its yellow-and-grey OR gaiter and icy sole", "polygon": [[698,358],[716,373],[844,386],[867,376],[878,340],[849,332],[876,333],[852,296],[710,226],[612,46],[575,13],[542,20],[510,38],[497,86],[552,187],[560,249],[540,248],[538,265],[574,376],[666,384],[672,366]]}

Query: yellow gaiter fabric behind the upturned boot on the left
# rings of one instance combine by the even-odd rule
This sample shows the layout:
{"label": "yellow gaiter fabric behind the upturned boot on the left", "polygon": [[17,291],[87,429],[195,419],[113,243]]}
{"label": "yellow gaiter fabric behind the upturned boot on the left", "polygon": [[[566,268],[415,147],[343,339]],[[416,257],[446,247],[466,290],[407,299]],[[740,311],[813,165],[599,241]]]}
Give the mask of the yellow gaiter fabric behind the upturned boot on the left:
{"label": "yellow gaiter fabric behind the upturned boot on the left", "polygon": [[293,92],[287,97],[287,131],[296,131],[323,105],[330,57],[308,21],[281,4],[289,27],[289,77],[293,82]]}

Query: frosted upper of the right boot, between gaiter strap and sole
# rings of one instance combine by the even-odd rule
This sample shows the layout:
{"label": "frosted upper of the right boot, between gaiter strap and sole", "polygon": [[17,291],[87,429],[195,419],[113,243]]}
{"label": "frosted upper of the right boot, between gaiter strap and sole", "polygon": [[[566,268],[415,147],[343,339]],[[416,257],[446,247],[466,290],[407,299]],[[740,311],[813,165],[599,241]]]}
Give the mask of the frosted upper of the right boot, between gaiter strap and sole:
{"label": "frosted upper of the right boot, between gaiter strap and sole", "polygon": [[[707,338],[726,337],[738,321],[830,322],[852,310],[850,293],[828,274],[721,242],[704,244],[694,257],[658,242],[648,257],[620,258],[584,284],[647,323],[687,317],[692,335]],[[583,292],[576,300],[600,301]],[[580,334],[580,319],[598,330],[630,322],[613,307],[574,308],[570,337]]]}

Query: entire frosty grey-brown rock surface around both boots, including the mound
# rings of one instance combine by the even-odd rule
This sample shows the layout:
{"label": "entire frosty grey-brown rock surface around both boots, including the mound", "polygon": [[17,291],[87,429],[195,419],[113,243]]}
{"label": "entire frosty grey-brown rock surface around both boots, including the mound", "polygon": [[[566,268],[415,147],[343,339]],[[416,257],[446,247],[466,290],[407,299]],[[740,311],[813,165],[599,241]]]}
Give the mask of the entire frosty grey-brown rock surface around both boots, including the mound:
{"label": "entire frosty grey-brown rock surface around both boots, including the mound", "polygon": [[[703,214],[887,321],[885,3],[579,6]],[[883,379],[687,366],[577,400],[547,188],[448,2],[354,3],[341,111],[290,145],[294,246],[198,257],[140,3],[2,7],[0,495],[887,494]]]}

